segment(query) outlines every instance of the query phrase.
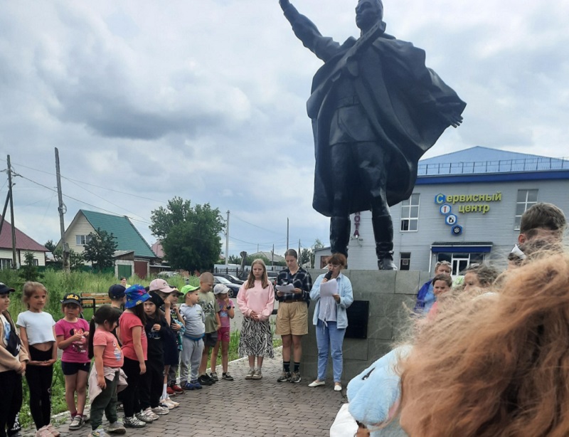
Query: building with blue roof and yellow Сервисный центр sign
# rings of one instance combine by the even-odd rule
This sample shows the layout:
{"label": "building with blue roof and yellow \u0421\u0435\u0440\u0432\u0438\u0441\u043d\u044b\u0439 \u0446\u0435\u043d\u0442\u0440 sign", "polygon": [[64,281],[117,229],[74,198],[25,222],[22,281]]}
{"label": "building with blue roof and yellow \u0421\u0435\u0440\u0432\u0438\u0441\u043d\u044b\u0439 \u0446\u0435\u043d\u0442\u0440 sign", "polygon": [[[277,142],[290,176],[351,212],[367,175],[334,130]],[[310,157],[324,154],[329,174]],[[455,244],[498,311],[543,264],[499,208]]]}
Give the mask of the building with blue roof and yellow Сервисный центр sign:
{"label": "building with blue roof and yellow \u0421\u0435\u0440\u0432\u0438\u0441\u043d\u044b\u0439 \u0446\u0435\u043d\u0442\u0440 sign", "polygon": [[[453,275],[472,263],[505,267],[521,214],[537,202],[567,214],[568,193],[569,159],[489,147],[422,159],[413,194],[390,209],[395,264],[432,273],[448,260]],[[349,268],[377,268],[370,211],[351,216]]]}

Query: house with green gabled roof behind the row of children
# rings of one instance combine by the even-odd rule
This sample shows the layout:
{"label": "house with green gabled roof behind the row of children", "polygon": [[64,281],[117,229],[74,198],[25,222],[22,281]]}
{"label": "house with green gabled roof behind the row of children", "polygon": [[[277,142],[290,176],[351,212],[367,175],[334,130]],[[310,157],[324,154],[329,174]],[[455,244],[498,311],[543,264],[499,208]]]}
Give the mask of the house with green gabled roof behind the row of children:
{"label": "house with green gabled roof behind the row of children", "polygon": [[90,233],[97,228],[112,233],[117,241],[115,251],[115,275],[129,278],[136,273],[139,278],[146,278],[151,266],[159,263],[146,240],[134,227],[127,216],[115,216],[95,211],[80,209],[65,231],[65,243],[70,249],[83,253],[83,246],[89,241]]}

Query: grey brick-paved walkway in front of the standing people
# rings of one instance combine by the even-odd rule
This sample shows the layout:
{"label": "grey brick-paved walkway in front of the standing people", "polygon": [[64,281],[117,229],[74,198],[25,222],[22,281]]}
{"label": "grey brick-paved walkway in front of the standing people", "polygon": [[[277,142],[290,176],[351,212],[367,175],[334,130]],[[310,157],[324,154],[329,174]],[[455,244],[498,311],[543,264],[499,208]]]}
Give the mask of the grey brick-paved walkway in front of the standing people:
{"label": "grey brick-paved walkway in front of the standing people", "polygon": [[[311,389],[311,375],[299,384],[278,383],[281,366],[281,348],[275,350],[275,359],[265,359],[260,381],[245,380],[246,359],[232,362],[229,372],[235,381],[174,396],[178,408],[144,428],[127,428],[126,436],[329,436],[336,413],[347,401],[345,389],[335,392],[331,384]],[[59,431],[65,437],[87,436],[90,423],[69,431],[67,421]]]}

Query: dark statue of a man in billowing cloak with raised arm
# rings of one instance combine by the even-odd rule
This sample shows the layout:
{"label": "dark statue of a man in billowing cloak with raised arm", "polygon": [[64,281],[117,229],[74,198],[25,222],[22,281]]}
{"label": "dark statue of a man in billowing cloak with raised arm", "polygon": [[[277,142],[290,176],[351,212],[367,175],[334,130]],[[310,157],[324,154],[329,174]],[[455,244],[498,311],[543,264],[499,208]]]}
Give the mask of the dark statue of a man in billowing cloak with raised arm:
{"label": "dark statue of a man in billowing cloak with raised arm", "polygon": [[371,210],[378,267],[394,270],[389,206],[408,199],[420,157],[466,103],[425,66],[425,51],[385,33],[381,0],[359,0],[360,38],[321,36],[289,0],[285,17],[324,61],[307,102],[316,169],[312,206],[330,217],[332,253],[348,254],[350,214]]}

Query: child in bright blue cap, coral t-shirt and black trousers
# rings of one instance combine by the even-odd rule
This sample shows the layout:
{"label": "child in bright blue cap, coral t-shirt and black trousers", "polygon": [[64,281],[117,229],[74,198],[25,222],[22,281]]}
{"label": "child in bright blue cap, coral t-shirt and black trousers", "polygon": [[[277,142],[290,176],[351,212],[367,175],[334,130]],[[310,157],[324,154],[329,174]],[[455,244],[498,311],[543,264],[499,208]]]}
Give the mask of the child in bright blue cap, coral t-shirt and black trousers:
{"label": "child in bright blue cap, coral t-shirt and black trousers", "polygon": [[152,419],[145,416],[140,407],[140,383],[142,375],[147,372],[148,340],[144,332],[147,320],[143,303],[150,299],[150,295],[142,285],[132,285],[126,290],[127,302],[124,303],[124,312],[119,318],[120,339],[124,363],[122,370],[127,375],[128,386],[122,392],[124,406],[124,426],[128,428],[142,428]]}

